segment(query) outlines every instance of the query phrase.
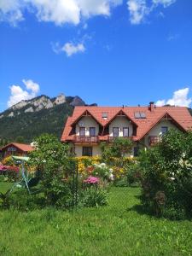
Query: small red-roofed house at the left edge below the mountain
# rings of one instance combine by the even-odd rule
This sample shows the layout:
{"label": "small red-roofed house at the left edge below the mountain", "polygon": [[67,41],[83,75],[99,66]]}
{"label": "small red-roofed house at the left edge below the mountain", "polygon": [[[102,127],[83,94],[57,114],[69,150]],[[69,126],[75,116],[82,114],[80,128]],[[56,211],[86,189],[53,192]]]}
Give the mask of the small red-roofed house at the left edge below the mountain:
{"label": "small red-roofed house at the left edge below the mountain", "polygon": [[21,143],[9,143],[8,145],[0,148],[2,158],[9,155],[26,156],[29,152],[34,150],[31,145]]}

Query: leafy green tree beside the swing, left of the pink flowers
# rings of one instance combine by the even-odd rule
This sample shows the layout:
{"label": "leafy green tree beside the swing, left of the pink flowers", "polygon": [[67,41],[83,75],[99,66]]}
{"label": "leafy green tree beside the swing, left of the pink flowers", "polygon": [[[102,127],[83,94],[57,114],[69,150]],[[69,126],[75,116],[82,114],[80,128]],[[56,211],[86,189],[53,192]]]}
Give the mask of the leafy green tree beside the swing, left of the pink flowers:
{"label": "leafy green tree beside the swing, left of the pink flowers", "polygon": [[44,134],[35,139],[36,150],[30,154],[31,165],[42,172],[44,196],[48,205],[66,207],[72,199],[67,176],[72,171],[67,144],[62,144],[56,137]]}

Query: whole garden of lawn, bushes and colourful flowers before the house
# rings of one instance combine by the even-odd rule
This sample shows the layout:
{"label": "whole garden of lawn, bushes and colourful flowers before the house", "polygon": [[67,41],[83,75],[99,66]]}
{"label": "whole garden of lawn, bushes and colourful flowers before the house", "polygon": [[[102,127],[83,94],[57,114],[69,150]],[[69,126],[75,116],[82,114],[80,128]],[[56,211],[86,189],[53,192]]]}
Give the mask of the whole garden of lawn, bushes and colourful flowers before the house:
{"label": "whole garden of lawn, bushes and colourful flowers before the house", "polygon": [[92,158],[49,135],[36,142],[26,183],[20,161],[2,160],[1,255],[192,254],[191,132],[169,131],[138,158],[124,139]]}

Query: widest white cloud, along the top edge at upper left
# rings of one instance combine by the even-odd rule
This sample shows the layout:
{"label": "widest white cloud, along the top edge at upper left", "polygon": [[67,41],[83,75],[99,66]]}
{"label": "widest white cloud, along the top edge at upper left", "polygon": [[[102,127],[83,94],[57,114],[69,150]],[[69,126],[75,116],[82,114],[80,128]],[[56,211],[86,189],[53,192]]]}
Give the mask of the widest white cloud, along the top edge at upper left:
{"label": "widest white cloud, along the top edge at upper left", "polygon": [[111,9],[123,0],[1,0],[0,20],[16,23],[23,19],[27,10],[34,13],[39,21],[79,24],[82,18],[111,14]]}

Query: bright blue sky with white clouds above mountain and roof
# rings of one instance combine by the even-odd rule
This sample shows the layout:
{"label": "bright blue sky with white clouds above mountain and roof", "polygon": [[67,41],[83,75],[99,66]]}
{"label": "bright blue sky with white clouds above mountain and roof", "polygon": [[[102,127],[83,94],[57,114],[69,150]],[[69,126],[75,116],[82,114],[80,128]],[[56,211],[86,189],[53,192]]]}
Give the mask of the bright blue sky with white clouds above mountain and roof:
{"label": "bright blue sky with white clouds above mountain and roof", "polygon": [[61,92],[191,106],[191,0],[2,0],[0,37],[0,112]]}

